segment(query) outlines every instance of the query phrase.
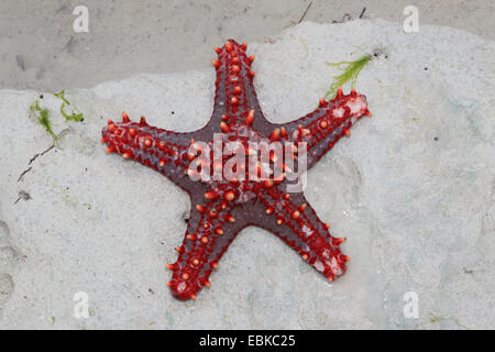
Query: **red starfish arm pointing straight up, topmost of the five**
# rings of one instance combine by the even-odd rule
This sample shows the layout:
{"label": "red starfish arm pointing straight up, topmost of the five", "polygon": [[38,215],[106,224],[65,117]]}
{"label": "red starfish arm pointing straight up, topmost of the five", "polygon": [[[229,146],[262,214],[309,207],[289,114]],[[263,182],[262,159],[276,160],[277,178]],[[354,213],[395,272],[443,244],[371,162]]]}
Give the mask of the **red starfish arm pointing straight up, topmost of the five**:
{"label": "red starfish arm pointing straight up, topmost of the five", "polygon": [[[218,59],[212,61],[217,80],[213,113],[207,125],[210,132],[229,132],[245,124],[250,119],[254,119],[255,128],[270,124],[256,98],[253,86],[254,70],[251,67],[254,56],[248,57],[246,47],[245,43],[238,44],[234,40],[229,40],[221,48],[215,48]],[[251,123],[252,120],[248,122],[250,125]]]}

